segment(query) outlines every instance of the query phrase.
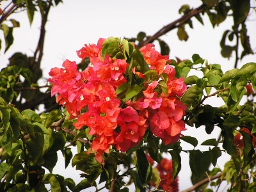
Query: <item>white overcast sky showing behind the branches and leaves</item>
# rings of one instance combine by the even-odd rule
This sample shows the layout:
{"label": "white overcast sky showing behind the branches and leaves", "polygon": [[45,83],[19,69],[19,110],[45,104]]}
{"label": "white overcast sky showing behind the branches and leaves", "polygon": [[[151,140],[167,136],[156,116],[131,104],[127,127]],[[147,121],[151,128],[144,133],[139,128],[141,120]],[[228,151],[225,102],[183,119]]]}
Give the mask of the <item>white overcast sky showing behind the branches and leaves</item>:
{"label": "white overcast sky showing behind the branches and leaves", "polygon": [[[252,1],[255,3],[255,1]],[[200,6],[202,1],[174,1],[174,0],[63,0],[58,6],[51,9],[49,14],[49,22],[46,25],[46,36],[44,46],[44,57],[42,60],[42,68],[44,77],[42,84],[46,83],[49,77],[48,72],[52,67],[61,67],[64,60],[79,62],[76,51],[81,49],[84,44],[97,44],[100,37],[108,38],[109,36],[127,37],[136,36],[140,31],[144,31],[147,35],[154,35],[159,29],[163,28],[173,20],[179,19],[179,8],[182,4],[189,4],[191,8]],[[255,4],[254,4],[255,5]],[[4,7],[4,2],[2,2]],[[14,52],[26,53],[32,56],[38,42],[40,33],[40,17],[39,13],[35,13],[35,19],[32,26],[29,26],[28,16],[26,12],[19,15],[13,15],[11,18],[20,21],[20,28],[13,31],[14,43],[12,47],[4,54],[4,49],[0,51],[0,69],[6,67],[8,58]],[[10,19],[11,19],[10,18]],[[190,59],[194,53],[200,54],[209,63],[219,63],[224,71],[234,67],[234,54],[230,60],[224,59],[220,54],[220,40],[226,29],[232,28],[232,19],[228,18],[219,27],[212,28],[207,15],[203,17],[204,26],[193,18],[194,29],[186,26],[189,39],[187,42],[181,42],[177,37],[177,29],[161,36],[168,45],[170,45],[170,58],[175,56],[180,59]],[[256,22],[255,12],[250,16],[247,22],[248,35],[253,51],[256,49]],[[3,39],[3,34],[0,34]],[[156,43],[157,44],[157,43]],[[2,43],[2,47],[4,44]],[[243,61],[239,62],[238,67],[241,68],[245,63],[256,61],[256,56],[246,56]],[[216,102],[216,98],[207,99],[206,102],[215,106],[221,106],[222,102]],[[204,134],[204,127],[195,129],[187,127],[184,135],[195,136],[198,143],[207,140],[207,138],[216,138],[220,129],[216,129],[211,135]],[[183,145],[184,149],[193,149],[188,145]],[[205,148],[207,150],[207,148]],[[74,150],[74,152],[76,152]],[[168,156],[170,157],[170,156]],[[218,161],[218,165],[223,167],[223,163],[227,161],[227,157],[223,155]],[[191,186],[189,154],[182,153],[182,170],[179,174],[180,190]],[[60,158],[58,166],[54,168],[54,173],[60,173],[64,177],[71,177],[76,182],[81,180],[77,172],[71,166],[65,170],[64,161]],[[93,191],[93,189],[92,189]]]}

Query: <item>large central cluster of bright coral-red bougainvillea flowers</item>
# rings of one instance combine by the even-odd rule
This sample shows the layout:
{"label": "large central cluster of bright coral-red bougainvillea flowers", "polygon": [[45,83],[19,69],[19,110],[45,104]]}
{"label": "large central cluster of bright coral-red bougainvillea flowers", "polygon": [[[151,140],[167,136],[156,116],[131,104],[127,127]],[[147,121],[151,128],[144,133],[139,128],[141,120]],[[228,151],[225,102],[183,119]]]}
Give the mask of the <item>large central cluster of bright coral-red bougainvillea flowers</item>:
{"label": "large central cluster of bright coral-red bougainvillea flowers", "polygon": [[[96,152],[97,161],[102,161],[103,152],[115,147],[127,151],[143,140],[146,129],[164,142],[175,143],[180,132],[185,129],[181,120],[186,106],[179,97],[186,91],[182,78],[175,78],[175,70],[166,65],[168,56],[155,51],[154,44],[140,49],[151,70],[157,75],[168,76],[168,93],[160,95],[154,90],[163,86],[158,80],[148,82],[138,68],[131,68],[134,76],[145,79],[142,96],[138,100],[124,103],[116,95],[116,89],[127,82],[124,74],[129,63],[124,59],[111,58],[108,54],[102,59],[102,44],[84,45],[77,55],[90,58],[90,65],[79,72],[72,61],[64,61],[64,68],[52,68],[49,81],[52,83],[52,96],[58,93],[56,101],[67,108],[70,118],[77,118],[76,129],[84,125],[90,128],[89,134],[95,136],[91,148]],[[161,79],[160,79],[161,80]]]}

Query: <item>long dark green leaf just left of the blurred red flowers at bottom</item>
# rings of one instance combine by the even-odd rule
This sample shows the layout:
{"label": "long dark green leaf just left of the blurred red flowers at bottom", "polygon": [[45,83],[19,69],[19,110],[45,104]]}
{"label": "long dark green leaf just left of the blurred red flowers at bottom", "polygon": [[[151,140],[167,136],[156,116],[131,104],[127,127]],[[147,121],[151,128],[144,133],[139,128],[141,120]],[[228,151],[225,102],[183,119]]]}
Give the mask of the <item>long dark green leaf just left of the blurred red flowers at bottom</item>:
{"label": "long dark green leaf just left of the blurred red flowers at bottom", "polygon": [[152,175],[152,167],[148,163],[143,150],[136,150],[136,169],[143,185],[147,184]]}

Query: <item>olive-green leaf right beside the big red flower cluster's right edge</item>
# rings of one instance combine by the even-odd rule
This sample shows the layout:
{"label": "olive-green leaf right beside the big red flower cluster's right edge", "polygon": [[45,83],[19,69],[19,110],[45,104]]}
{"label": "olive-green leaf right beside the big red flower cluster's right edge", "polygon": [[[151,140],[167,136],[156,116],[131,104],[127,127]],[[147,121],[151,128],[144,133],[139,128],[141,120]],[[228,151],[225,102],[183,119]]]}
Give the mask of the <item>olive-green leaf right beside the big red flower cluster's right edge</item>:
{"label": "olive-green leaf right beside the big red flower cluster's right edge", "polygon": [[198,102],[203,94],[203,90],[198,88],[198,86],[193,85],[182,95],[181,101],[186,106],[190,107],[193,103]]}

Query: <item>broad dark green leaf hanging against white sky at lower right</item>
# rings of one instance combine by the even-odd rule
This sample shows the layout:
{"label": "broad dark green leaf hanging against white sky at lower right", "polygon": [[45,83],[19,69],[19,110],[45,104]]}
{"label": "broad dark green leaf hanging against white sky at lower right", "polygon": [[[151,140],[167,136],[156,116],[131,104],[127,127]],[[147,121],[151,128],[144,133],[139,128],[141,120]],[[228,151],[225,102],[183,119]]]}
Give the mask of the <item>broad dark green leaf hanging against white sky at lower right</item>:
{"label": "broad dark green leaf hanging against white sky at lower right", "polygon": [[200,150],[191,150],[189,152],[189,166],[191,172],[196,177],[202,177],[207,172],[211,164],[211,152],[201,152]]}

